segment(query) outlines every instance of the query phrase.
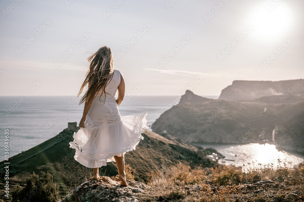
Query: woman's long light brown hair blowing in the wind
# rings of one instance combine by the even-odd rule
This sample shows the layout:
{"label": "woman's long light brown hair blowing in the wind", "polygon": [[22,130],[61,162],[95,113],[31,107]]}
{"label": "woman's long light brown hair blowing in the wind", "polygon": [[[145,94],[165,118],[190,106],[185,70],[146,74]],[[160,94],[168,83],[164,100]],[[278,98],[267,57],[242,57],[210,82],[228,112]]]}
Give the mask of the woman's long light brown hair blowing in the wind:
{"label": "woman's long light brown hair blowing in the wind", "polygon": [[88,61],[90,62],[89,70],[77,97],[79,97],[87,84],[88,90],[81,98],[79,105],[86,101],[92,101],[97,96],[97,93],[102,91],[102,94],[99,97],[100,100],[101,96],[107,93],[105,92],[105,87],[107,86],[108,81],[113,77],[113,55],[109,47],[104,46],[99,48],[96,53],[88,58]]}

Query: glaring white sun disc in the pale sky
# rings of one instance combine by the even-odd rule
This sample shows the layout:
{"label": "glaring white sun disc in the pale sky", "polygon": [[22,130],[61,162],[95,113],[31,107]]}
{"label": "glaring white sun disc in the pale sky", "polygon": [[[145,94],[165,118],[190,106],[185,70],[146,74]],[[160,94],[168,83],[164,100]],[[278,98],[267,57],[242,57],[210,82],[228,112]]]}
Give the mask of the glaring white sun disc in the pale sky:
{"label": "glaring white sun disc in the pale sky", "polygon": [[254,32],[260,39],[276,39],[288,33],[293,24],[292,11],[284,2],[264,5],[251,18]]}

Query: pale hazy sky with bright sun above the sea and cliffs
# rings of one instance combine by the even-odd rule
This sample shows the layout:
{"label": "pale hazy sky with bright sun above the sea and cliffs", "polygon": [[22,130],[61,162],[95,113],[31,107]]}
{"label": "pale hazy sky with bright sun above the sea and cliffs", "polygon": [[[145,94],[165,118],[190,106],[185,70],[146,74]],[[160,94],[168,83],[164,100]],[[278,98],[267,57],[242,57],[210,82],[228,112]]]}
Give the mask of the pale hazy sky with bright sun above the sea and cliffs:
{"label": "pale hazy sky with bright sun above the sea and cliffs", "polygon": [[234,80],[303,78],[304,1],[0,2],[0,95],[76,95],[111,48],[126,94],[219,95]]}

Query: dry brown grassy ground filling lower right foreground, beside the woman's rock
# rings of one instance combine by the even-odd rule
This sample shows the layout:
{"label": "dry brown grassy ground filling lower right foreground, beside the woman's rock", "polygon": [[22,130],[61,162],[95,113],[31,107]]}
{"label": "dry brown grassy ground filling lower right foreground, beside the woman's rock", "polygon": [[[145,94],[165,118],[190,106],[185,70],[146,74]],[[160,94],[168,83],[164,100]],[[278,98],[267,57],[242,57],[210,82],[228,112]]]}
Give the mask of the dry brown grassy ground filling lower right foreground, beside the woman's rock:
{"label": "dry brown grassy ground filling lower right foreground, beside the woman's rock", "polygon": [[[276,168],[266,166],[245,173],[233,165],[191,169],[188,165],[177,164],[159,168],[151,162],[150,173],[147,173],[151,190],[142,195],[140,201],[232,202],[237,198],[255,201],[273,200],[274,197],[280,201],[287,197],[282,192],[304,191],[304,165],[299,169],[289,169],[283,164]],[[261,187],[254,183],[265,180],[271,180],[271,183],[265,185],[263,192],[255,193]],[[278,184],[278,187],[273,188],[273,184]],[[276,191],[277,194],[273,194]],[[303,196],[299,194],[294,201],[303,201]]]}

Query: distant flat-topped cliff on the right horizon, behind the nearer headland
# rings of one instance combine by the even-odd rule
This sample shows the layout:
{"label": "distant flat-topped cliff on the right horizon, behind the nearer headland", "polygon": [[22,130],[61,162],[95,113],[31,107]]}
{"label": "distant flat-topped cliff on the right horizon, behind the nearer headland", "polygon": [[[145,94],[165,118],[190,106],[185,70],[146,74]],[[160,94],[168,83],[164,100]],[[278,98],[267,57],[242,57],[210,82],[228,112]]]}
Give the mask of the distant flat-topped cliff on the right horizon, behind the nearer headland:
{"label": "distant flat-topped cliff on the right horizon, behind the nearer headland", "polygon": [[[304,96],[304,80],[285,81],[241,81],[236,80],[232,85],[224,88],[219,96],[220,100],[254,100],[272,95]],[[297,98],[297,97],[296,97]]]}

